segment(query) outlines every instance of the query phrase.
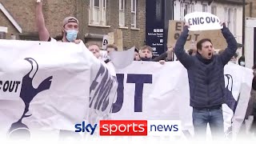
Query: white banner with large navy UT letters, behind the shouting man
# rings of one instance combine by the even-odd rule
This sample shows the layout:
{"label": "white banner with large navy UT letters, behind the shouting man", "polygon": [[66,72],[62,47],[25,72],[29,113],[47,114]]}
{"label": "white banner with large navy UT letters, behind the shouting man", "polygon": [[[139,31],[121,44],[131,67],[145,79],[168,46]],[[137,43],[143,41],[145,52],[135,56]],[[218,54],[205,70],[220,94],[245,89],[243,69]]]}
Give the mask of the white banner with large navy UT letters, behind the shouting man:
{"label": "white banner with large navy UT letters, behind the shouting man", "polygon": [[[118,97],[112,118],[181,120],[184,134],[194,133],[187,72],[180,62],[133,62],[116,72]],[[242,124],[252,78],[252,71],[245,67],[225,66],[227,103],[222,109],[226,135],[236,134]]]}

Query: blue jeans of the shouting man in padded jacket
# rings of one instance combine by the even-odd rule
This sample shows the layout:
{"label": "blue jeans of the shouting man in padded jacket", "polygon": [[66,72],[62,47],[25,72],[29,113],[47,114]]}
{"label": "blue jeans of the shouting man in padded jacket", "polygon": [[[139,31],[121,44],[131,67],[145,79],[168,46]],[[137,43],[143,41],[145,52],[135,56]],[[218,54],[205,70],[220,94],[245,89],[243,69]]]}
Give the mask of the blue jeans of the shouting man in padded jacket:
{"label": "blue jeans of the shouting man in padded jacket", "polygon": [[222,106],[215,108],[193,108],[193,126],[195,138],[206,138],[207,123],[212,138],[224,138],[224,120]]}

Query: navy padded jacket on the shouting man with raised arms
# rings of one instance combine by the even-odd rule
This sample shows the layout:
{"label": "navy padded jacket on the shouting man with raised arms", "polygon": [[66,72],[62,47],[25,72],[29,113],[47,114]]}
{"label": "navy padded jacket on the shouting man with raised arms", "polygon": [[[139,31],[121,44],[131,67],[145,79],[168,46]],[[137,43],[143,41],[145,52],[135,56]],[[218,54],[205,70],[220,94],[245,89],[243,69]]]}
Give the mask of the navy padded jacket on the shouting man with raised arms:
{"label": "navy padded jacket on the shouting man with raised arms", "polygon": [[228,44],[226,50],[219,55],[213,55],[210,60],[202,58],[200,54],[190,56],[186,54],[184,45],[188,37],[188,27],[184,30],[174,48],[178,60],[186,67],[190,85],[190,106],[205,108],[219,106],[226,102],[224,66],[235,54],[237,42],[226,26],[222,34]]}

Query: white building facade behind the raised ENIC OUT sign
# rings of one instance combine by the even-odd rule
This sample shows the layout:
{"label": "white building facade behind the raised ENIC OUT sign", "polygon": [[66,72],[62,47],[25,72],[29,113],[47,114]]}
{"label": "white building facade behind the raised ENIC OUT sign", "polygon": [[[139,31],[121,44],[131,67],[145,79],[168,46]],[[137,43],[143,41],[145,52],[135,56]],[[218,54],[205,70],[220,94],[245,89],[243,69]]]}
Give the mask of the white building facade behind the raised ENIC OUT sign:
{"label": "white building facade behind the raised ENIC OUT sign", "polygon": [[174,20],[183,20],[186,14],[194,11],[218,16],[242,43],[242,0],[174,0]]}

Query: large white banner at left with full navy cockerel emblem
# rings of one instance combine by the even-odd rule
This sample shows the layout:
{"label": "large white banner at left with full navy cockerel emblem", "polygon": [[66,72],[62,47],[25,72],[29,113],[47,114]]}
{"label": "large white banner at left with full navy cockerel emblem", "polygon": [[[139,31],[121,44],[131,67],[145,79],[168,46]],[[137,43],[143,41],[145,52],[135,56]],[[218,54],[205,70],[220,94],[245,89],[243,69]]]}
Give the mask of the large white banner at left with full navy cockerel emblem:
{"label": "large white banner at left with full navy cockerel emblem", "polygon": [[83,43],[1,40],[0,54],[0,139],[58,139],[109,119],[116,78]]}

